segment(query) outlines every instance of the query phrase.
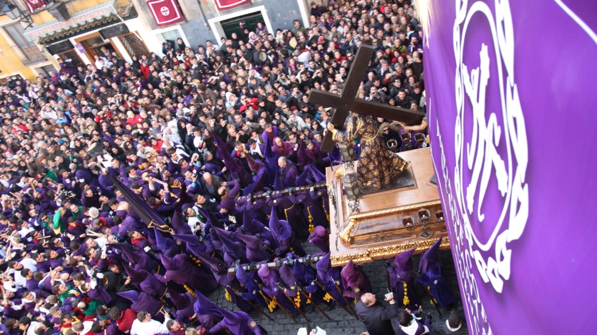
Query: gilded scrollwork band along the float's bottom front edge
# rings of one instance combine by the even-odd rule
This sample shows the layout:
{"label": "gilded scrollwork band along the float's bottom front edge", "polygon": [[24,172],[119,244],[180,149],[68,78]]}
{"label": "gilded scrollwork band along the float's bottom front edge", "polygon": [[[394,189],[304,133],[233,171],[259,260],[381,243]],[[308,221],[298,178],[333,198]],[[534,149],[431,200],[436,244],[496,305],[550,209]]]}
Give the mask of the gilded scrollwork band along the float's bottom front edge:
{"label": "gilded scrollwork band along the float's bottom front edge", "polygon": [[[410,243],[396,244],[395,246],[377,247],[368,249],[367,252],[351,253],[348,255],[332,256],[330,258],[332,266],[346,265],[350,260],[356,264],[373,262],[373,260],[390,258],[405,252],[410,249],[417,249],[416,252],[423,252],[429,249],[437,241],[437,238],[430,238],[429,240],[414,241]],[[442,243],[439,244],[440,249],[450,249],[450,240],[444,236]]]}

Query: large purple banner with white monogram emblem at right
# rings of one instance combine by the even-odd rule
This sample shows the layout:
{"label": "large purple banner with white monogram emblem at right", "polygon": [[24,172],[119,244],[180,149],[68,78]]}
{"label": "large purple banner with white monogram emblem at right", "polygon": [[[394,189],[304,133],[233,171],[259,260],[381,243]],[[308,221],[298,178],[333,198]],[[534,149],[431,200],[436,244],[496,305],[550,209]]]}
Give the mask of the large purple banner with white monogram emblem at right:
{"label": "large purple banner with white monogram emblem at right", "polygon": [[418,11],[470,333],[586,332],[597,297],[597,2],[419,1]]}

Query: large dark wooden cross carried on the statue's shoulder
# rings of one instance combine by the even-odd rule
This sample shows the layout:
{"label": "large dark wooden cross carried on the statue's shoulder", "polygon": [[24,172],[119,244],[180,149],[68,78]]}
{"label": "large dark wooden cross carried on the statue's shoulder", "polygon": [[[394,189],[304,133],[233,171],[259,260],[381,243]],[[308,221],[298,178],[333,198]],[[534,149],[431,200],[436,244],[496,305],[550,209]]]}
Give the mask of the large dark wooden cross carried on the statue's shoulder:
{"label": "large dark wooden cross carried on the statue's shoulder", "polygon": [[[309,103],[319,104],[322,106],[336,108],[336,112],[332,115],[328,122],[333,123],[337,129],[344,128],[344,122],[349,111],[357,114],[371,115],[375,117],[383,117],[384,119],[401,121],[404,123],[420,124],[425,116],[420,111],[413,111],[402,107],[395,107],[386,104],[374,103],[373,101],[365,101],[356,99],[356,92],[361,86],[365,70],[371,61],[373,46],[361,44],[356,52],[355,60],[350,67],[346,83],[342,89],[342,94],[333,94],[330,92],[313,89],[309,94]],[[321,144],[320,150],[330,153],[334,149],[334,141],[331,132],[325,134],[324,141]]]}

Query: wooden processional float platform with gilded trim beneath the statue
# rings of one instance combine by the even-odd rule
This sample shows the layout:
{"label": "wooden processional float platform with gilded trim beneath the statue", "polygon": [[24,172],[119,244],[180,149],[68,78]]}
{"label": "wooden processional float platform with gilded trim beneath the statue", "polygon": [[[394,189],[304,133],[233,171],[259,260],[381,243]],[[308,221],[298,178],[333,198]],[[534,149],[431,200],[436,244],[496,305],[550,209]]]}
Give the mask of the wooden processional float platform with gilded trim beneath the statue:
{"label": "wooden processional float platform with gilded trim beneath the statue", "polygon": [[430,147],[399,156],[411,163],[398,177],[402,180],[388,190],[365,192],[358,210],[351,209],[355,203],[343,195],[343,168],[327,168],[332,266],[390,259],[413,248],[424,252],[440,237],[440,248],[450,248]]}

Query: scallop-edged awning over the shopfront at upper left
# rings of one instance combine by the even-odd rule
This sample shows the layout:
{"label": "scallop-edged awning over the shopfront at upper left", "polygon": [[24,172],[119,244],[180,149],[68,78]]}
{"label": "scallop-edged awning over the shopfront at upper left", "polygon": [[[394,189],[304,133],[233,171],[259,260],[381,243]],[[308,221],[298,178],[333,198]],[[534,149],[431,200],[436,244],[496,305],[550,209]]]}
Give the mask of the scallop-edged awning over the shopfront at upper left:
{"label": "scallop-edged awning over the shopfront at upper left", "polygon": [[[108,26],[120,20],[119,13],[114,7],[115,0],[87,8],[70,16],[66,21],[50,21],[36,27],[25,30],[25,35],[32,41],[39,39],[39,44],[60,41],[73,35],[78,35],[86,30],[98,29]],[[122,13],[121,17],[130,17],[136,12],[133,7],[126,8],[128,13]]]}

